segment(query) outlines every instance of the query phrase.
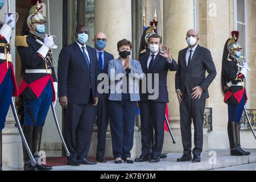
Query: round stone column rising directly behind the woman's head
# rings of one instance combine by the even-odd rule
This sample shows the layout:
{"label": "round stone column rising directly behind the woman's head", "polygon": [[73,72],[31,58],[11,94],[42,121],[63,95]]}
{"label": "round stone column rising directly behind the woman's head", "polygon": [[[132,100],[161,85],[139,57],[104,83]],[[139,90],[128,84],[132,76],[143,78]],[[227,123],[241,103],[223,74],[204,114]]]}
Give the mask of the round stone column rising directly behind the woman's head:
{"label": "round stone column rising directly behind the woman's head", "polygon": [[96,0],[95,32],[104,32],[108,39],[106,51],[118,57],[117,42],[131,40],[131,1]]}

